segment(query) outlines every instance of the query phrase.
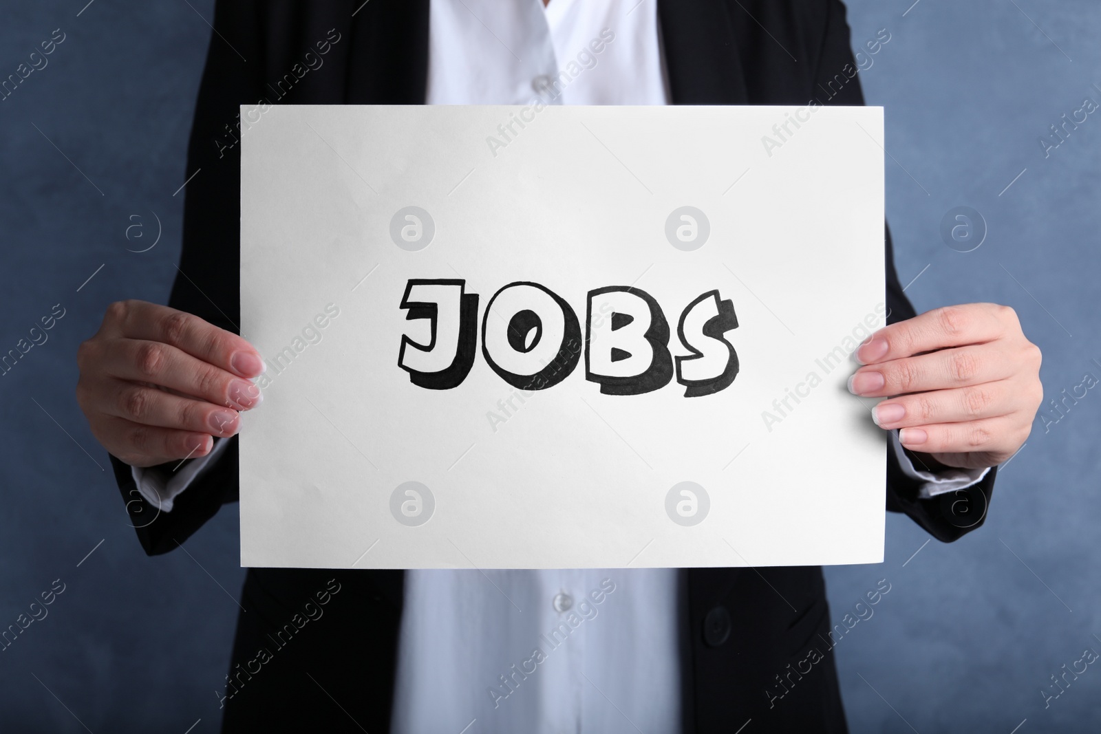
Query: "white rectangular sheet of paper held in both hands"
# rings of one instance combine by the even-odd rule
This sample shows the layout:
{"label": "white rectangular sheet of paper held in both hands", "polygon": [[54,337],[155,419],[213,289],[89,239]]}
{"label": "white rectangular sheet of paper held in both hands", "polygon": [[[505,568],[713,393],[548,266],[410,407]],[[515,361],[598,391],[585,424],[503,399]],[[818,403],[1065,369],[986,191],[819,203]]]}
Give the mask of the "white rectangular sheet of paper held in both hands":
{"label": "white rectangular sheet of paper held in both hands", "polygon": [[[240,436],[242,566],[882,561],[884,436],[874,402],[846,390],[851,352],[885,314],[881,108],[241,117],[241,330],[269,362]],[[478,295],[473,364],[449,390],[399,364],[403,336],[429,342],[430,319],[401,307],[413,280]],[[632,310],[640,292],[676,358],[691,355],[683,310],[718,291],[737,316],[720,329],[737,377],[686,397],[674,371],[652,392],[604,394],[578,350],[568,376],[524,392],[491,369],[483,326],[494,363],[531,374],[560,351],[568,316],[534,286],[487,315],[517,282],[565,300],[582,337],[587,294],[631,288],[592,297],[592,368],[615,384],[652,361],[631,340],[648,319]],[[433,350],[404,358],[437,372],[456,357],[458,289],[411,294],[443,302]],[[512,318],[528,307],[538,329]],[[726,365],[729,350],[700,336],[718,307],[686,317],[704,358],[685,379]],[[635,320],[613,331],[617,309]],[[510,325],[526,331],[514,344]]]}

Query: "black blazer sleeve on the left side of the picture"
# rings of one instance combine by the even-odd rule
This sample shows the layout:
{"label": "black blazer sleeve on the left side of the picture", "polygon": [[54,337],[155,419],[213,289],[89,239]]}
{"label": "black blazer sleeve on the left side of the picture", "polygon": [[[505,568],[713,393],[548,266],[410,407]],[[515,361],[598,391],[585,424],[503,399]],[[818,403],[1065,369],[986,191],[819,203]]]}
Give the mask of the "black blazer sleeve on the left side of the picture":
{"label": "black blazer sleeve on the left side of the picture", "polygon": [[[168,305],[240,333],[239,106],[262,95],[260,11],[252,0],[217,2],[199,83],[184,180],[183,251]],[[171,513],[138,492],[128,464],[111,457],[131,525],[149,555],[184,543],[219,507],[238,499],[238,442],[188,485]],[[175,464],[167,465],[171,470]]]}

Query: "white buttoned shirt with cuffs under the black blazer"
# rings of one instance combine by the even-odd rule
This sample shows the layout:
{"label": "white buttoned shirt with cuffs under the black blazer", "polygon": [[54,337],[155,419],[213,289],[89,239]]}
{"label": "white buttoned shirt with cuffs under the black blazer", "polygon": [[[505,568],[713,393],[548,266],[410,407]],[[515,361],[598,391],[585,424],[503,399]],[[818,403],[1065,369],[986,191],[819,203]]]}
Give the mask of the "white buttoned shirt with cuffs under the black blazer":
{"label": "white buttoned shirt with cuffs under the black blazer", "polygon": [[[545,9],[542,0],[432,0],[429,12],[429,105],[667,103],[654,0]],[[920,496],[988,471],[917,471],[891,436]],[[167,480],[134,468],[139,491],[171,512],[227,445]],[[408,571],[391,733],[678,732],[676,573]]]}

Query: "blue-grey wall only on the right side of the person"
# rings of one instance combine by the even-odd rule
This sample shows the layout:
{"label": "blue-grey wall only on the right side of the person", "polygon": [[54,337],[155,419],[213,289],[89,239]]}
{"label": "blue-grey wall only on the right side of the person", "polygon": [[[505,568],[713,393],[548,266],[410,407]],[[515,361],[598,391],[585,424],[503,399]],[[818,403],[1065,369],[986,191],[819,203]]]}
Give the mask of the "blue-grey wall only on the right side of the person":
{"label": "blue-grey wall only on the right side of the person", "polygon": [[[1101,103],[1101,6],[922,0],[904,18],[912,2],[849,3],[853,46],[879,29],[892,36],[861,76],[897,160],[886,163],[895,261],[904,284],[920,273],[907,295],[918,310],[1013,306],[1044,352],[1046,398],[1087,373],[1101,380],[1101,110],[1047,157],[1038,142],[1083,98]],[[973,252],[940,238],[956,206],[986,221]],[[907,562],[926,537],[889,517],[882,567],[827,572],[835,616],[874,581],[892,583],[837,648],[854,731],[908,732],[903,717],[923,734],[1009,734],[1024,719],[1021,734],[1101,728],[1094,666],[1046,709],[1039,692],[1087,647],[1101,651],[1094,392],[1057,424],[1037,418],[978,532]]]}

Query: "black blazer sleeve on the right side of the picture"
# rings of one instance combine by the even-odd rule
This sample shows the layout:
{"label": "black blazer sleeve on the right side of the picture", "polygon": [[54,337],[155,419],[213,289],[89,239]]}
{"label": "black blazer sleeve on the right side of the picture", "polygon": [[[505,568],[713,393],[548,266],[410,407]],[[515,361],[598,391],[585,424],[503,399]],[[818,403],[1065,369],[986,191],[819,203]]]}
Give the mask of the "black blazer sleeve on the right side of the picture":
{"label": "black blazer sleeve on the right side of the picture", "polygon": [[[849,25],[846,22],[844,6],[840,0],[816,2],[824,10],[825,28],[821,50],[815,66],[810,99],[822,105],[863,106],[864,96],[860,88],[860,76],[850,47]],[[822,9],[822,6],[826,6]],[[894,266],[894,248],[891,232],[884,226],[884,248],[886,264],[887,324],[903,321],[916,316],[914,306],[903,293],[902,284]],[[930,499],[919,499],[918,483],[903,473],[891,447],[887,452],[886,507],[891,512],[903,512],[925,528],[938,540],[950,543],[982,525],[994,490],[993,468],[975,484],[956,492],[948,492]],[[936,470],[937,462],[931,457],[907,451],[918,468]]]}

